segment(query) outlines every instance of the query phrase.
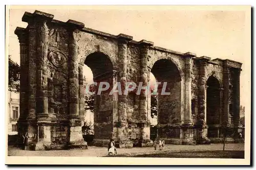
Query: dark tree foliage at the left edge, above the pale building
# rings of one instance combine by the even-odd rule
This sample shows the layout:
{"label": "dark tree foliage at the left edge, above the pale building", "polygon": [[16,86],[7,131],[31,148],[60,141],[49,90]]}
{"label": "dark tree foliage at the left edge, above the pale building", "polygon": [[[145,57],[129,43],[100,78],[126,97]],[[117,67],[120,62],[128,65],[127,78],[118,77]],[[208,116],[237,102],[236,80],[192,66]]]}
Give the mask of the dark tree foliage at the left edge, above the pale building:
{"label": "dark tree foliage at the left edge, above the pale building", "polygon": [[9,91],[19,92],[19,76],[20,67],[19,65],[8,57],[8,89]]}

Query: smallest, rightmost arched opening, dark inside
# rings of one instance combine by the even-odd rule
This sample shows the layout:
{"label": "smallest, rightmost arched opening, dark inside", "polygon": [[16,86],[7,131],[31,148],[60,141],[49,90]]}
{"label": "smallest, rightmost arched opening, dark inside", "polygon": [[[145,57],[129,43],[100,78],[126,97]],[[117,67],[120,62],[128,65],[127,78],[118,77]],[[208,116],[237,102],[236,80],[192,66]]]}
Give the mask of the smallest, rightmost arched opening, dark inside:
{"label": "smallest, rightmost arched opening, dark inside", "polygon": [[210,76],[206,82],[206,124],[207,136],[218,137],[220,124],[220,82],[214,76]]}

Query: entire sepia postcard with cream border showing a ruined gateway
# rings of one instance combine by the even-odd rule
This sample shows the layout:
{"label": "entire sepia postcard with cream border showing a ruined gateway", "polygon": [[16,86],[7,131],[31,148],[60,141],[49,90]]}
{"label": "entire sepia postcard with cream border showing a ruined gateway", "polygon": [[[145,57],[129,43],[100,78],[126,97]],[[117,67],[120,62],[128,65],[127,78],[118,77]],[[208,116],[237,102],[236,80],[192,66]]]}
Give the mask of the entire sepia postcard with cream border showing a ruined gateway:
{"label": "entire sepia postcard with cream border showing a ruined gateway", "polygon": [[251,6],[6,6],[7,64],[6,164],[251,163]]}

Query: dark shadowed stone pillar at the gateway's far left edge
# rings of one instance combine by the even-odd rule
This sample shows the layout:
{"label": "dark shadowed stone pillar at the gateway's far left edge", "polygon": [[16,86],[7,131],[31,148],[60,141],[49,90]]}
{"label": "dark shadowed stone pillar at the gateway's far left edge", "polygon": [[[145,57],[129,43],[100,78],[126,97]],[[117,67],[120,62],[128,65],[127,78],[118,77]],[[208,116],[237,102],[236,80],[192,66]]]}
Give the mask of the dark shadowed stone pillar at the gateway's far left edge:
{"label": "dark shadowed stone pillar at the gateway's far left edge", "polygon": [[[23,147],[24,138],[22,137],[26,134],[27,122],[26,118],[28,116],[28,32],[24,28],[17,27],[15,32],[19,40],[19,50],[20,50],[20,91],[19,91],[19,119],[17,121],[18,126],[18,147]],[[11,107],[10,107],[11,108]],[[11,112],[10,112],[11,113]]]}

